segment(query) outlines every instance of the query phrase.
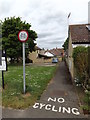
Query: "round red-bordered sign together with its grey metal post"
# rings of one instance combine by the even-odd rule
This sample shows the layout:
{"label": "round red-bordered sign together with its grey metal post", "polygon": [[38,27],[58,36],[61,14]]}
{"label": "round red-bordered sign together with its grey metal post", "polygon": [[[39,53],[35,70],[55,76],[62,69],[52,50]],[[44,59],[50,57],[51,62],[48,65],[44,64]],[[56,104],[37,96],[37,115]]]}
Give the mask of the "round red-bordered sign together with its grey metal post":
{"label": "round red-bordered sign together with its grey metal post", "polygon": [[25,30],[22,30],[18,33],[18,39],[20,42],[23,42],[23,92],[26,92],[26,83],[25,83],[25,42],[28,40],[28,33]]}

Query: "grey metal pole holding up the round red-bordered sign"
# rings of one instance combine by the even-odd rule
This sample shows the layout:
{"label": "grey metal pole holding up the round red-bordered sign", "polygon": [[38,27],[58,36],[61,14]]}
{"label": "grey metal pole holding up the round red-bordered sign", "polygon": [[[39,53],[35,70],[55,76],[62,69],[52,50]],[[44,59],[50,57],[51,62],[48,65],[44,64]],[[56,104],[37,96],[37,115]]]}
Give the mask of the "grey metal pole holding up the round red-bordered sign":
{"label": "grey metal pole holding up the round red-bordered sign", "polygon": [[23,92],[25,94],[25,42],[23,42]]}

